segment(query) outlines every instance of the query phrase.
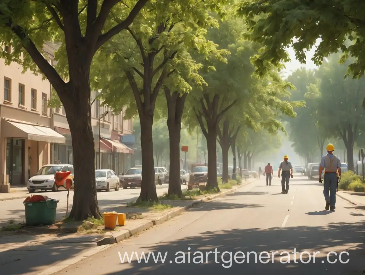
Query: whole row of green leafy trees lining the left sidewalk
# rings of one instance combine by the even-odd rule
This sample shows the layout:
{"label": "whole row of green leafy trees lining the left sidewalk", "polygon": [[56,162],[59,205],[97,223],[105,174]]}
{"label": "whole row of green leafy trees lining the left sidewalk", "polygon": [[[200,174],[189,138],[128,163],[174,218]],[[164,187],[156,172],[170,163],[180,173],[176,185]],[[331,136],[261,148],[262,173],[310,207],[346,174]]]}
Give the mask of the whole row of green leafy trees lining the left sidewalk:
{"label": "whole row of green leafy trees lining the left sidewalk", "polygon": [[[235,1],[222,0],[8,0],[0,5],[0,40],[14,49],[11,54],[1,49],[1,56],[24,70],[42,73],[65,108],[72,143],[77,145],[71,218],[100,217],[91,89],[101,90],[104,104],[115,112],[128,106],[126,116],[139,116],[142,201],[158,201],[152,130],[161,104],[167,106],[169,195],[181,195],[181,123],[203,131],[207,189],[217,190],[217,138],[227,180],[226,155],[237,147],[239,133],[284,131],[281,115],[295,117],[293,107],[302,102],[285,100],[291,85],[273,65],[265,65],[263,77],[254,74],[250,58],[258,56],[261,44],[243,39],[247,21],[236,16],[236,8]],[[47,41],[61,45],[55,66],[43,52]],[[247,160],[257,149],[242,148],[245,152],[238,155]]]}

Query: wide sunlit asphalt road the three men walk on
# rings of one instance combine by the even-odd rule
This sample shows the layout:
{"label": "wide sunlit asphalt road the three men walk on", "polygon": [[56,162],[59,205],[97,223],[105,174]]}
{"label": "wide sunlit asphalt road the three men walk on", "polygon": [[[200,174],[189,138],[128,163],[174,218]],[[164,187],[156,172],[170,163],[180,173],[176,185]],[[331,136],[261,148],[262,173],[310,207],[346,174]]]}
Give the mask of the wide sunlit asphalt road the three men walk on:
{"label": "wide sunlit asphalt road the three men walk on", "polygon": [[[277,176],[272,186],[261,178],[57,274],[364,274],[364,211],[340,198],[335,211],[325,211],[322,190],[318,182],[297,175],[291,179],[289,193],[280,194]],[[331,251],[337,256],[332,253],[327,258]],[[349,256],[342,253],[341,263],[343,251]],[[126,252],[133,257],[131,263],[127,257],[121,263]],[[149,252],[155,257],[158,252],[167,255],[162,263],[161,258],[154,262],[151,254],[146,264],[143,259],[138,263],[133,252],[139,257],[145,252],[146,258]],[[185,263],[181,263],[183,255]]]}

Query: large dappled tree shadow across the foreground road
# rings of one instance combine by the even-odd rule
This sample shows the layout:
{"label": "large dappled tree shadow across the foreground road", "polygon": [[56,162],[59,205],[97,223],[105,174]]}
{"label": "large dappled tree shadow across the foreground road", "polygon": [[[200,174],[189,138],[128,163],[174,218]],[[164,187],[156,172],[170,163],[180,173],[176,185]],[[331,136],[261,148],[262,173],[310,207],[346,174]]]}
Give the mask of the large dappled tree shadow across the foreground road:
{"label": "large dappled tree shadow across the foreground road", "polygon": [[[155,255],[161,252],[164,256],[168,252],[165,263],[162,263],[161,260],[154,263],[151,260],[152,255],[148,263],[145,263],[144,260],[138,263],[134,258],[130,264],[120,263],[119,271],[104,272],[103,274],[132,275],[143,274],[147,270],[149,274],[153,275],[199,273],[219,275],[222,272],[228,272],[228,274],[280,275],[363,274],[362,271],[365,270],[364,251],[363,245],[359,243],[362,243],[364,225],[364,222],[356,224],[332,223],[328,226],[207,231],[197,236],[184,236],[184,238],[176,241],[155,245],[153,248],[150,246],[141,248],[141,251],[145,253],[154,251]],[[347,264],[339,261],[339,253],[342,252],[339,246],[342,245],[350,247],[347,250],[349,256],[346,254],[341,255],[342,262],[350,259]],[[190,249],[188,250],[188,248]],[[216,255],[212,253],[215,248],[218,251]],[[125,247],[121,247],[119,250],[122,257],[125,249]],[[291,253],[293,249],[299,252],[295,255],[296,263],[293,262],[294,255]],[[244,259],[241,253],[238,254],[238,258],[235,258],[234,255],[238,251],[243,252]],[[269,253],[266,254],[265,251]],[[288,260],[288,254],[283,253],[283,251],[290,253],[291,260],[289,263],[285,263]],[[309,260],[308,263],[303,263],[300,260],[300,253],[303,251],[307,251],[311,255],[311,258],[309,258],[307,253],[303,254],[302,261]],[[317,253],[314,257],[316,251],[320,251],[320,253]],[[330,251],[337,252],[337,255],[332,253],[327,258]],[[129,253],[131,252],[129,251]],[[229,254],[230,252],[232,255]],[[264,252],[261,259],[260,252]],[[280,255],[280,253],[282,254]],[[115,251],[115,254],[116,261],[120,262],[117,251]],[[268,258],[268,255],[270,258]],[[272,260],[273,255],[274,260]],[[110,254],[110,256],[113,255]],[[185,264],[179,263],[184,259]],[[280,263],[280,259],[283,263]],[[206,260],[208,263],[206,263]],[[335,260],[337,260],[336,263],[328,262],[334,262]],[[199,261],[203,261],[203,263],[199,263]],[[242,263],[242,261],[244,262]],[[268,263],[265,263],[265,261]]]}

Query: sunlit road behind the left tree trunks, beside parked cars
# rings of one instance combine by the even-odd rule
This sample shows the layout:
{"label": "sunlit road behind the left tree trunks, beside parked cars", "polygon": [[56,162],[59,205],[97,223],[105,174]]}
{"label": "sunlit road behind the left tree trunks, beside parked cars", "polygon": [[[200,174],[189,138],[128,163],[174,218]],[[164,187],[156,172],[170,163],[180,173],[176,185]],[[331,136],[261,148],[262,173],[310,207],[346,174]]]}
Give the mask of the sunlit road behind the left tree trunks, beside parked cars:
{"label": "sunlit road behind the left tree trunks, beside parked cars", "polygon": [[[182,189],[187,188],[185,185],[181,185]],[[163,195],[168,191],[168,184],[156,186],[157,195]],[[119,188],[118,191],[111,190],[109,192],[101,191],[97,192],[97,199],[99,202],[99,209],[101,211],[108,211],[110,207],[118,207],[121,203],[131,202],[138,198],[141,188]],[[24,193],[27,195],[27,193]],[[30,195],[30,194],[28,194]],[[65,217],[67,209],[67,191],[59,190],[58,192],[35,192],[32,195],[46,195],[51,199],[58,199],[57,204],[57,219]],[[9,220],[14,220],[16,223],[25,222],[24,214],[24,199],[15,200],[3,200],[0,201],[0,226],[8,224]],[[73,202],[73,191],[69,194],[69,209],[68,213],[72,208]]]}

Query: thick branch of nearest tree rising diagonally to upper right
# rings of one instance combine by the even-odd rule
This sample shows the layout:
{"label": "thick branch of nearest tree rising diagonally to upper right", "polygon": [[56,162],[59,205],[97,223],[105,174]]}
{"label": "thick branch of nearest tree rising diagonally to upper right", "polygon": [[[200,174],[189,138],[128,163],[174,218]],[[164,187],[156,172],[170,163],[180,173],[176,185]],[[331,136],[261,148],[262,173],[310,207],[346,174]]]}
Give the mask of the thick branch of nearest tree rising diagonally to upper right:
{"label": "thick branch of nearest tree rising diagonally to upper right", "polygon": [[[105,1],[107,1],[107,0],[104,0],[104,2]],[[110,1],[117,1],[118,2],[119,0],[110,0]],[[130,12],[130,14],[127,16],[127,18],[123,22],[120,22],[118,25],[112,27],[106,33],[100,35],[99,38],[97,39],[97,42],[96,42],[96,49],[95,49],[95,51],[97,49],[99,49],[101,47],[101,45],[103,45],[105,42],[107,42],[114,35],[120,33],[126,27],[130,26],[130,24],[132,24],[134,18],[138,15],[139,11],[141,11],[141,9],[147,3],[147,1],[149,1],[149,0],[138,0],[138,2],[135,4],[135,6],[133,7],[133,9]],[[100,14],[99,14],[99,16],[100,16]],[[104,22],[105,22],[105,20],[104,20]],[[103,24],[103,26],[104,26],[104,24]]]}

